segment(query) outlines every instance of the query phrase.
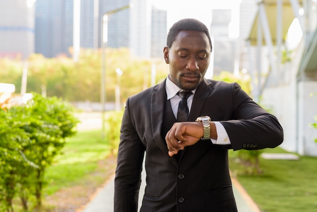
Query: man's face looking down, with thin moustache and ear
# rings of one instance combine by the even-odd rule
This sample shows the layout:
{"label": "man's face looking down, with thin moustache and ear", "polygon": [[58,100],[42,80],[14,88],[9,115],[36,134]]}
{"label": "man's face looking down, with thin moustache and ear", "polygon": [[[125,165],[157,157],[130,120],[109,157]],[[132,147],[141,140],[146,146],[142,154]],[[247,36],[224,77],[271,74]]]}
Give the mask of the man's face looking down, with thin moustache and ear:
{"label": "man's face looking down, with thin moustache and ear", "polygon": [[164,48],[170,64],[170,80],[183,90],[191,91],[203,81],[210,62],[211,47],[201,31],[180,31],[171,48]]}

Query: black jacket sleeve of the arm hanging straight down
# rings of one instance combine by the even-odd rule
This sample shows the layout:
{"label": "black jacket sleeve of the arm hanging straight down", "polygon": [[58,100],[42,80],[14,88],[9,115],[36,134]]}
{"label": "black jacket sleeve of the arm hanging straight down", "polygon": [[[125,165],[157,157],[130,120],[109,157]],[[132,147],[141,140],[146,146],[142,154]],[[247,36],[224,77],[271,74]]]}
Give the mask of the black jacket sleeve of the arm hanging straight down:
{"label": "black jacket sleeve of the arm hanging straight down", "polygon": [[121,125],[114,179],[114,212],[137,211],[144,146],[135,130],[127,100]]}

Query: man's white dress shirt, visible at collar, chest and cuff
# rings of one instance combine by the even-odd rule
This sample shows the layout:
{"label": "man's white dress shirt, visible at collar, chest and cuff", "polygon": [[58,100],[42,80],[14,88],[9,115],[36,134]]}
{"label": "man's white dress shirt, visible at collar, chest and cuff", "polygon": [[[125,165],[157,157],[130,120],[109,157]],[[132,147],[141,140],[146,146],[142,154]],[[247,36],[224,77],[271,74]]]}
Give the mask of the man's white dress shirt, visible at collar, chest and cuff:
{"label": "man's white dress shirt, visible at collar, chest and cuff", "polygon": [[[166,93],[167,93],[167,100],[170,99],[171,102],[171,107],[174,113],[175,118],[177,118],[177,110],[178,110],[178,103],[181,100],[181,97],[177,95],[178,91],[182,91],[177,85],[175,85],[169,77],[167,77],[166,80]],[[191,92],[195,94],[195,90],[192,90]],[[188,105],[188,111],[190,114],[190,109],[191,109],[191,103],[194,95],[190,95],[187,98],[187,105]],[[230,143],[229,136],[227,134],[227,131],[223,127],[223,125],[220,122],[215,121],[214,122],[216,125],[216,130],[217,130],[217,139],[211,139],[211,142],[213,144],[218,144],[218,145],[228,145]]]}

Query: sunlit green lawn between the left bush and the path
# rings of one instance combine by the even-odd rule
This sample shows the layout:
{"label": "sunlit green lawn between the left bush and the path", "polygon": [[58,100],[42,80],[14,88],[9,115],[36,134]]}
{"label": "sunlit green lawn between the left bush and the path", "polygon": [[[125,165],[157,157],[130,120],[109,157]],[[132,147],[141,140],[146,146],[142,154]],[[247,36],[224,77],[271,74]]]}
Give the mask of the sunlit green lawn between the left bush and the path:
{"label": "sunlit green lawn between the left bush and the path", "polygon": [[[100,168],[98,161],[110,155],[108,145],[101,139],[101,130],[77,132],[74,137],[67,138],[62,152],[46,171],[45,177],[49,184],[44,189],[45,195],[90,181],[90,174]],[[94,175],[93,181],[102,184],[105,178],[104,175]]]}

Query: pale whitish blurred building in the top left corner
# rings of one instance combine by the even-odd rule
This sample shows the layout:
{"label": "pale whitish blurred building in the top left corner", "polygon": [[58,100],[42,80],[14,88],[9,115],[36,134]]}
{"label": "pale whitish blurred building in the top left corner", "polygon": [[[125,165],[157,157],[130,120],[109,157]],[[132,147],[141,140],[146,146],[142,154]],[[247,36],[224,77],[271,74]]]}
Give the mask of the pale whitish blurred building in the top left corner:
{"label": "pale whitish blurred building in the top left corner", "polygon": [[20,56],[25,59],[32,53],[34,53],[33,1],[0,1],[0,57]]}

